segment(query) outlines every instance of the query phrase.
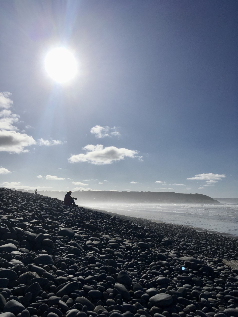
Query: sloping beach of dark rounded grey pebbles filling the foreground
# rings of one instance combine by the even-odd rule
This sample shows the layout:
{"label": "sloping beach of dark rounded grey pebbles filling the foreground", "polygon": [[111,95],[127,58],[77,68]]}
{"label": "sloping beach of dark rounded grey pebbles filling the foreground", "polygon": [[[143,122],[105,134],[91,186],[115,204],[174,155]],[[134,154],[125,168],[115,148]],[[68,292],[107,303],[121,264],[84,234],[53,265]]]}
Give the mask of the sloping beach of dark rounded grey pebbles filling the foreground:
{"label": "sloping beach of dark rounded grey pebbles filling the foreground", "polygon": [[237,241],[0,188],[0,317],[237,317]]}

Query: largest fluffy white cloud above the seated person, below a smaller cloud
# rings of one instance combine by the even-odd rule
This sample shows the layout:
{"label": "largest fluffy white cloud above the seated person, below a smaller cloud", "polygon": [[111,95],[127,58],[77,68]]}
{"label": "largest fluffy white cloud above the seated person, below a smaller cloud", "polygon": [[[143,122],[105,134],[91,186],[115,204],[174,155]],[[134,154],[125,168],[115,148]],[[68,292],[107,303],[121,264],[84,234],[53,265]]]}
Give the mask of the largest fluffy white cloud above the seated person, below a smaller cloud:
{"label": "largest fluffy white cloud above the seated person, below a smaller cloud", "polygon": [[120,161],[125,157],[138,158],[138,151],[125,148],[117,148],[115,146],[104,147],[102,144],[88,144],[82,150],[86,154],[72,155],[68,160],[70,163],[89,162],[95,165],[111,164],[113,161]]}

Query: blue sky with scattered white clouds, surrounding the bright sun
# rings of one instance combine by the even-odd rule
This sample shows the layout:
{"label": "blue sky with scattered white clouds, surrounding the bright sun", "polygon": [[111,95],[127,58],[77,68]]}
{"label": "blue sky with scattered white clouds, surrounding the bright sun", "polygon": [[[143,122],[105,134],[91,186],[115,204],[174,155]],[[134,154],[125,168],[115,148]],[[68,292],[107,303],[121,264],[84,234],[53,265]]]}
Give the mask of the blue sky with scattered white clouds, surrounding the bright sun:
{"label": "blue sky with scattered white clouds, surrounding the bright sun", "polygon": [[[237,197],[237,1],[0,2],[0,186]],[[44,60],[75,56],[57,83]]]}

